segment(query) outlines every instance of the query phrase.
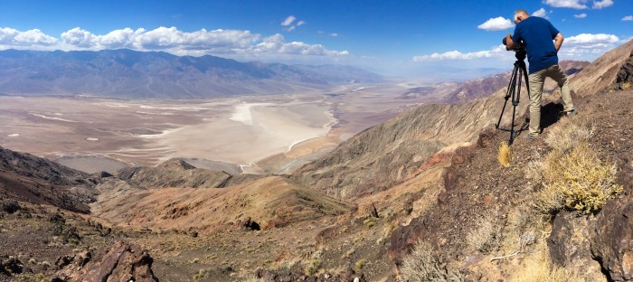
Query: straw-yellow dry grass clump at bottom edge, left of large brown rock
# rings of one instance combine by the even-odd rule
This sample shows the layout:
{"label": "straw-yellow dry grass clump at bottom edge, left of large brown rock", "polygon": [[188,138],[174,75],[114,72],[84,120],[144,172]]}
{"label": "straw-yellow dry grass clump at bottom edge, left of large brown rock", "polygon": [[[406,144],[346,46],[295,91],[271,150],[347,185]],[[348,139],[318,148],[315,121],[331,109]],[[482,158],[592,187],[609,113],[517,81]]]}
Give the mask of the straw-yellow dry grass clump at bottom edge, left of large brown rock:
{"label": "straw-yellow dry grass clump at bottom edge, left of large brown rock", "polygon": [[547,245],[539,244],[534,256],[524,259],[524,268],[519,268],[510,278],[511,282],[584,282],[585,279],[573,271],[552,263]]}

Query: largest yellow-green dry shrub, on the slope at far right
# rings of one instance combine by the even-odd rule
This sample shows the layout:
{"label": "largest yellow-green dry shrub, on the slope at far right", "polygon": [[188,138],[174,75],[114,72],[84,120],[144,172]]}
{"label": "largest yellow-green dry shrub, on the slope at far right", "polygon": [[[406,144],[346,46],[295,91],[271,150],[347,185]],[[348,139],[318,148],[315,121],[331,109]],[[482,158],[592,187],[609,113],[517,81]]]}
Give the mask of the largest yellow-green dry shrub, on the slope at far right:
{"label": "largest yellow-green dry shrub, on the slope at far right", "polygon": [[570,208],[587,213],[599,211],[610,197],[622,192],[615,183],[615,165],[606,165],[587,144],[568,153],[553,151],[543,162],[543,189],[535,205],[547,212]]}

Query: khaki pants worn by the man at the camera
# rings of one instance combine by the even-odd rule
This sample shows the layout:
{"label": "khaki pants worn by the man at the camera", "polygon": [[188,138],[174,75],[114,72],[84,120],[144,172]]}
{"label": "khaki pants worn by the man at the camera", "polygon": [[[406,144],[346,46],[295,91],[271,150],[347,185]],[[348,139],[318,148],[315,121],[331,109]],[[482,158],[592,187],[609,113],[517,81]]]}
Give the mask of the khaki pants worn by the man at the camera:
{"label": "khaki pants worn by the man at the camera", "polygon": [[543,83],[545,78],[551,78],[561,87],[561,97],[564,110],[572,110],[572,95],[570,94],[569,80],[558,64],[549,68],[536,71],[528,76],[530,81],[530,135],[541,134],[541,97],[543,96]]}

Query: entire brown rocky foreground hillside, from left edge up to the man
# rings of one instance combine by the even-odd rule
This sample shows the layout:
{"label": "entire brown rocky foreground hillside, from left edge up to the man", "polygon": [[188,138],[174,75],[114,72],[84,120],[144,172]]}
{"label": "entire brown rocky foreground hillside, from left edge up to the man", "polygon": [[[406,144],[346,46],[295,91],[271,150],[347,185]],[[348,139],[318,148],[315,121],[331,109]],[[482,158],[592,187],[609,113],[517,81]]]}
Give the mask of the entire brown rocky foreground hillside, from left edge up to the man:
{"label": "entire brown rocky foreground hillside, from left edge up to the man", "polygon": [[[230,175],[180,160],[81,174],[4,150],[0,280],[394,281],[411,269],[439,281],[630,280],[633,249],[621,242],[633,237],[632,55],[628,42],[573,74],[576,117],[561,117],[551,88],[543,136],[518,136],[507,166],[497,157],[508,133],[493,126],[503,88],[406,111],[291,175]],[[600,206],[546,189],[573,173],[539,173],[579,152],[600,164],[594,181],[621,188]],[[32,193],[16,193],[24,189]]]}

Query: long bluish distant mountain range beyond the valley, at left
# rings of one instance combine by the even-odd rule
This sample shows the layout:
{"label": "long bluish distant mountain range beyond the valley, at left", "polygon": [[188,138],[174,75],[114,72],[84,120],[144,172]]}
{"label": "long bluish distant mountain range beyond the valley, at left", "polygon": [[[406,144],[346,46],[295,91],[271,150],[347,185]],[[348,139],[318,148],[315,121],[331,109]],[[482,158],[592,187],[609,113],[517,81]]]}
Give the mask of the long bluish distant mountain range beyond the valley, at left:
{"label": "long bluish distant mountain range beyond the valley, at left", "polygon": [[240,62],[126,49],[0,51],[0,93],[124,99],[213,98],[282,94],[376,82],[377,74],[339,65]]}

